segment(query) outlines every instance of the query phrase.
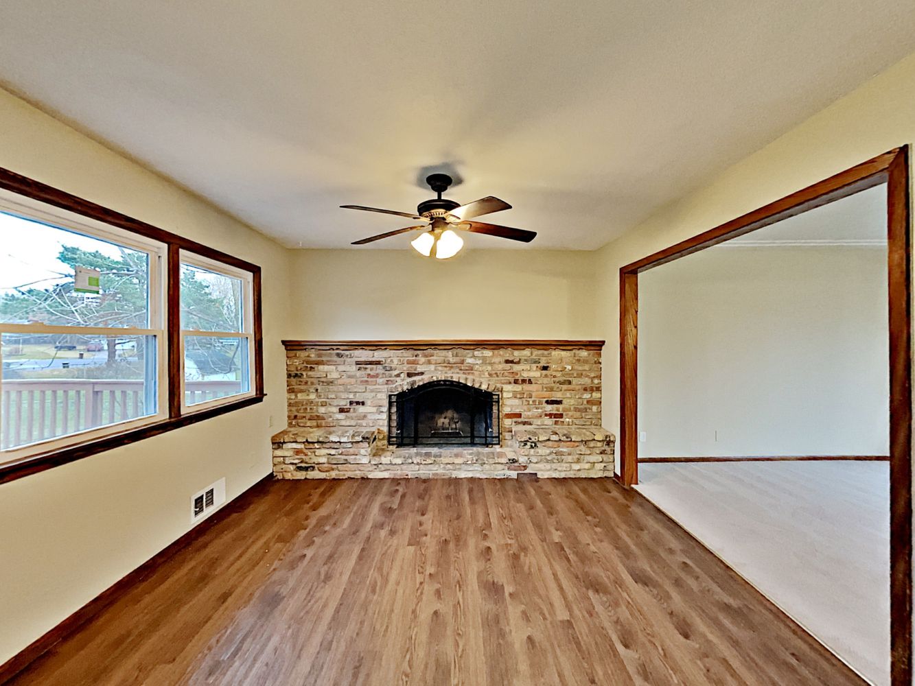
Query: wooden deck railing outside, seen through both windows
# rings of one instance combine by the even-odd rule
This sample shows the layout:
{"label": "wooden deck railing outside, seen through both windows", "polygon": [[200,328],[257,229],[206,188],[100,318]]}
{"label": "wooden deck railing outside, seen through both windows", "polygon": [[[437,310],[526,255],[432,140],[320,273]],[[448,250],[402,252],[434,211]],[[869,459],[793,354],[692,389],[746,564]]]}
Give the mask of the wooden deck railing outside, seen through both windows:
{"label": "wooden deck railing outside, seen through both windows", "polygon": [[[0,448],[26,445],[144,416],[143,381],[10,380],[0,396]],[[193,404],[239,391],[238,381],[188,381]]]}

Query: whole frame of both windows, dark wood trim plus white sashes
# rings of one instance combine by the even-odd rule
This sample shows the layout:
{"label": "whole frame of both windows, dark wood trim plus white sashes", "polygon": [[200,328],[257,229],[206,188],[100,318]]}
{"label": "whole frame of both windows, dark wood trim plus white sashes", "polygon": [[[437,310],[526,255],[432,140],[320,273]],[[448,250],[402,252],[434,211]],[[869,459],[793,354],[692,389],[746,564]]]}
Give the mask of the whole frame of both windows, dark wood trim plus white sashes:
{"label": "whole frame of both windows, dark wood trim plus white sashes", "polygon": [[[0,167],[0,210],[64,230],[113,241],[150,255],[146,329],[40,326],[42,333],[156,337],[156,413],[0,451],[0,484],[121,445],[187,426],[264,399],[261,268],[197,241],[135,220]],[[153,252],[151,252],[151,250]],[[153,264],[153,254],[156,265]],[[180,262],[188,253],[199,266],[242,278],[244,334],[248,338],[249,391],[216,402],[184,406],[183,331],[180,328]],[[37,332],[35,325],[0,324],[0,330]],[[48,331],[54,329],[54,331]]]}

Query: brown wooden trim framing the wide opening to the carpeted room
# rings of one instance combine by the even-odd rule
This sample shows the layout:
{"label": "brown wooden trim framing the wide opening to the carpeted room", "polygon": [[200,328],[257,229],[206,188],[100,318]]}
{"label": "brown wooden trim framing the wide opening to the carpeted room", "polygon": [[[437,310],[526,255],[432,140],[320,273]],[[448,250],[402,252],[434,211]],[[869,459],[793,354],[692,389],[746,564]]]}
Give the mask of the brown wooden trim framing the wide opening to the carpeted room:
{"label": "brown wooden trim framing the wide opening to the carpeted room", "polygon": [[889,319],[890,678],[912,681],[912,390],[909,145],[619,269],[619,481],[638,483],[639,273],[776,221],[887,184]]}

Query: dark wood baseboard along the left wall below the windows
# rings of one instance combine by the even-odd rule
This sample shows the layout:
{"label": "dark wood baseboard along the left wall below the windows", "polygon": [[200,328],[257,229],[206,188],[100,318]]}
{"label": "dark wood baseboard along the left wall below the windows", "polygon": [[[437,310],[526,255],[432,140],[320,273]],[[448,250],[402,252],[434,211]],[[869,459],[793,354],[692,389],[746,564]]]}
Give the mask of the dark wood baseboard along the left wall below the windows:
{"label": "dark wood baseboard along the left wall below the windows", "polygon": [[[96,595],[92,598],[91,601],[86,603],[72,615],[68,616],[62,622],[59,623],[56,627],[52,627],[44,635],[36,638],[26,648],[20,650],[12,658],[6,660],[2,665],[0,665],[0,685],[4,684],[6,681],[11,680],[22,670],[25,670],[28,665],[34,662],[36,659],[44,655],[48,650],[54,648],[54,646],[59,643],[64,638],[70,636],[70,634],[77,631],[80,627],[92,620],[93,617],[97,616],[107,607],[112,606],[122,595],[124,595],[128,590],[130,590],[136,584],[147,579],[151,574],[156,572],[163,563],[166,563],[171,557],[176,553],[180,552],[184,548],[187,548],[190,543],[196,541],[200,536],[202,536],[207,531],[218,524],[221,520],[226,519],[231,514],[239,511],[239,503],[242,499],[242,496],[245,494],[250,494],[253,489],[263,486],[266,482],[273,479],[273,474],[268,474],[266,477],[255,482],[251,487],[246,488],[238,496],[232,498],[231,501],[227,502],[221,509],[216,510],[210,517],[206,520],[201,521],[197,526],[195,526],[190,531],[187,531],[184,535],[178,538],[176,541],[172,541],[161,551],[156,552],[151,558],[146,560],[145,563],[137,567],[133,572],[128,573],[120,581],[115,582],[113,585],[106,588],[102,593]],[[243,507],[243,506],[242,506]]]}

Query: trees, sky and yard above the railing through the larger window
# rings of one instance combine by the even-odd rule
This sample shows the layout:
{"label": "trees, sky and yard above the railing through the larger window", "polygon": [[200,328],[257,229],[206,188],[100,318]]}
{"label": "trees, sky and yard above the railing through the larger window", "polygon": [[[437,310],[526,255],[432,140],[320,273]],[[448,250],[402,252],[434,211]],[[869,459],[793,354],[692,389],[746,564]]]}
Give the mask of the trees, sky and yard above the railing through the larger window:
{"label": "trees, sky and yard above the railing through the larger window", "polygon": [[[148,327],[145,252],[0,214],[0,322]],[[76,266],[101,272],[101,293],[74,291]],[[2,326],[2,325],[0,325]],[[145,338],[5,333],[4,379],[143,379]]]}

